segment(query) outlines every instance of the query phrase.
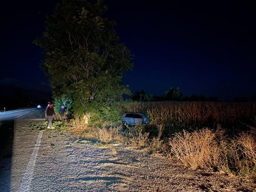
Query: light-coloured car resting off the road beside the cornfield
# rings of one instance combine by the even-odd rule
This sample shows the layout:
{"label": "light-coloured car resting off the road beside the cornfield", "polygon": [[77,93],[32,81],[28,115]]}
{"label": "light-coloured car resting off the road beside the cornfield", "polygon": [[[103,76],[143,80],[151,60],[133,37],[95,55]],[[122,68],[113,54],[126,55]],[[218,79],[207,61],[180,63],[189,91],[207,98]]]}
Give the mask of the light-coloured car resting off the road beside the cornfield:
{"label": "light-coloured car resting off the road beside the cornfield", "polygon": [[143,113],[122,113],[122,124],[123,125],[137,125],[139,123],[141,124],[148,124],[150,122],[150,119]]}

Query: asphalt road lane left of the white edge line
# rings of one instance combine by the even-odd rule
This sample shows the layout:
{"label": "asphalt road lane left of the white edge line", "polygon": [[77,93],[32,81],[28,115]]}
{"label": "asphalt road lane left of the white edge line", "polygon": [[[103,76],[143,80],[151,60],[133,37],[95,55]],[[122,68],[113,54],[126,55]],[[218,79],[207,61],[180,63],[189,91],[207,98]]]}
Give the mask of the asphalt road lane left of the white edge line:
{"label": "asphalt road lane left of the white edge line", "polygon": [[[44,119],[44,109],[26,108],[0,113],[0,191],[12,190],[12,183],[26,170],[38,133],[23,124]],[[18,173],[13,174],[15,170]],[[19,185],[19,181],[16,181]]]}

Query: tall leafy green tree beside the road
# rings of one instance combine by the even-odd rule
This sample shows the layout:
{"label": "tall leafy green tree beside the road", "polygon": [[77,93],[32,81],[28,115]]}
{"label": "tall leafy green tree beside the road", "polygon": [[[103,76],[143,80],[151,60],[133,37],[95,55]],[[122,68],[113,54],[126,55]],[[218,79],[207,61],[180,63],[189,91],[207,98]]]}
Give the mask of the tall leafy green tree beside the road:
{"label": "tall leafy green tree beside the road", "polygon": [[63,0],[35,40],[43,49],[41,67],[53,96],[72,95],[78,115],[106,117],[130,92],[122,85],[122,76],[133,67],[131,54],[119,42],[115,22],[102,18],[106,10],[100,1]]}

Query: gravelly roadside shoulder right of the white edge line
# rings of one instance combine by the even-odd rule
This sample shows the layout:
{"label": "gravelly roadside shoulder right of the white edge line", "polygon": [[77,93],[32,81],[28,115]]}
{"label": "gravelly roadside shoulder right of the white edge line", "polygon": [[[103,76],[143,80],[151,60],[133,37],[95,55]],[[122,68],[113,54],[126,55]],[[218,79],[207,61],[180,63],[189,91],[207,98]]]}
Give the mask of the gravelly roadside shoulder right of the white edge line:
{"label": "gravelly roadside shoulder right of the white edge line", "polygon": [[193,171],[145,151],[100,148],[69,131],[44,132],[33,191],[253,191],[256,184],[220,172]]}

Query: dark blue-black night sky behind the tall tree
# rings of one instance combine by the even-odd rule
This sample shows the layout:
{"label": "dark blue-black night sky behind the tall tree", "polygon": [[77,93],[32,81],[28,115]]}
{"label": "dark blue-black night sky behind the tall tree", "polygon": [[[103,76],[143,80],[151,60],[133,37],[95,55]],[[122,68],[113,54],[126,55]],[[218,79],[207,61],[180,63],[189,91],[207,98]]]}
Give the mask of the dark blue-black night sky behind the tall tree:
{"label": "dark blue-black night sky behind the tall tree", "polygon": [[[32,44],[45,14],[60,0],[1,3],[0,81],[47,82]],[[202,3],[204,2],[204,3]],[[256,93],[256,7],[240,1],[105,0],[106,17],[134,55],[124,84],[162,95],[170,87],[192,94],[249,97]],[[230,84],[227,90],[228,82]]]}

